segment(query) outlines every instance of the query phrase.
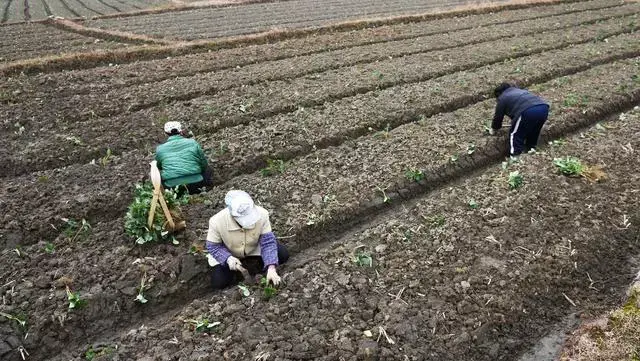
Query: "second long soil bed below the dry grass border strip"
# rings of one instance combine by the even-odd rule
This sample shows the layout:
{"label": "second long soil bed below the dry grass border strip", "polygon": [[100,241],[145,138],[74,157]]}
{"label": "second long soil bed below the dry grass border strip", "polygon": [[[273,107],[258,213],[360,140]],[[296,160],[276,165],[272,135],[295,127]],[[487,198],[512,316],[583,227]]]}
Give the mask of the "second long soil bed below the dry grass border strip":
{"label": "second long soil bed below the dry grass border strip", "polygon": [[[105,89],[82,94],[83,102],[88,102],[90,107],[76,114],[66,114],[65,119],[75,120],[91,116],[113,116],[125,111],[145,109],[160,103],[175,100],[189,100],[204,94],[220,94],[224,90],[238,88],[242,85],[259,84],[267,81],[295,79],[309,74],[316,74],[331,69],[340,69],[353,65],[369,63],[387,63],[390,58],[406,57],[406,55],[427,53],[439,49],[458,48],[463,44],[481,43],[492,39],[501,39],[518,35],[535,34],[545,27],[565,29],[570,25],[579,25],[604,21],[597,24],[602,29],[603,35],[610,34],[610,27],[635,26],[634,18],[620,18],[622,16],[636,15],[640,6],[633,4],[628,7],[614,8],[612,10],[580,14],[575,23],[564,18],[551,18],[548,21],[540,20],[540,25],[532,25],[525,21],[517,24],[499,25],[487,27],[483,30],[464,30],[461,32],[433,35],[411,40],[394,41],[384,44],[366,45],[361,47],[336,50],[326,53],[313,54],[303,57],[282,59],[272,62],[264,62],[248,65],[242,68],[222,70],[213,73],[197,74],[187,77],[173,77],[161,82],[144,83],[125,88]],[[569,23],[569,24],[566,24]],[[557,25],[563,24],[563,25]],[[570,29],[571,31],[572,29]],[[477,33],[477,34],[474,34]],[[555,35],[555,33],[551,33]],[[594,35],[595,36],[595,35]],[[459,39],[465,39],[461,42]],[[393,59],[391,59],[393,60]],[[396,59],[402,61],[402,59]],[[354,68],[355,69],[355,68]],[[338,70],[339,71],[339,70]],[[269,86],[268,84],[266,86]],[[242,91],[244,87],[240,88]],[[75,92],[74,92],[75,93]],[[136,94],[135,98],[131,94]],[[77,94],[75,94],[77,95]],[[25,104],[24,107],[35,108]],[[48,113],[55,113],[55,108],[48,108]],[[45,114],[36,114],[35,119],[42,119],[45,123]]]}

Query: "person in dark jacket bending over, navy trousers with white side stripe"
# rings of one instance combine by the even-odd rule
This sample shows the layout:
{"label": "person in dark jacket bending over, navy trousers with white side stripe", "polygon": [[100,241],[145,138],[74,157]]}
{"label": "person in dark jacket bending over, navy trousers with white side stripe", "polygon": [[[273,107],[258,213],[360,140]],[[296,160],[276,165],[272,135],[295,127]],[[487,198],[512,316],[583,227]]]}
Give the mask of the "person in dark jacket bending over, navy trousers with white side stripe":
{"label": "person in dark jacket bending over, navy trousers with white side stripe", "polygon": [[502,83],[495,89],[496,111],[489,134],[502,128],[502,120],[511,118],[509,154],[516,156],[535,149],[542,126],[549,117],[549,103],[527,90],[513,84]]}

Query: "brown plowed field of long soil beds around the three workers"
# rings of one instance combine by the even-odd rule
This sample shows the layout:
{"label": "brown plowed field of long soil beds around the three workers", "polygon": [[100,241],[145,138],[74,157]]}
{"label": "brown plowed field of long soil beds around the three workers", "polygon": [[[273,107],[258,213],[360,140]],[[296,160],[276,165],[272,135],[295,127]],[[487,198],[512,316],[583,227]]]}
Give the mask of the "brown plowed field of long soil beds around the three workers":
{"label": "brown plowed field of long soil beds around the three workers", "polygon": [[[376,4],[349,9],[370,15]],[[390,4],[385,16],[424,10]],[[329,5],[322,21],[305,8],[309,24],[334,21]],[[29,360],[517,360],[568,315],[615,305],[635,274],[639,10],[611,0],[532,4],[7,71],[0,312],[26,326],[0,317],[0,358],[22,360],[26,350]],[[229,13],[205,31],[195,12],[176,12],[175,24],[195,29],[185,35],[165,15],[85,24],[171,39],[270,26],[251,16],[236,26]],[[15,35],[0,41],[22,46],[0,54],[7,64],[58,54],[49,49],[134,46],[20,26],[45,27],[48,37],[0,27]],[[484,126],[505,80],[548,99],[552,114],[550,144],[501,166],[506,131],[489,137]],[[179,245],[136,246],[124,215],[167,120],[194,132],[216,184],[183,207],[189,227]],[[559,174],[553,160],[565,156],[607,178]],[[263,175],[274,160],[282,167]],[[510,190],[515,171],[524,183]],[[246,298],[237,288],[210,291],[206,260],[188,252],[229,189],[268,209],[292,252],[286,285],[270,300],[257,289]],[[373,266],[353,262],[357,252]],[[143,277],[149,302],[138,304]],[[68,309],[65,283],[86,307]],[[204,318],[221,324],[194,333],[188,320]]]}

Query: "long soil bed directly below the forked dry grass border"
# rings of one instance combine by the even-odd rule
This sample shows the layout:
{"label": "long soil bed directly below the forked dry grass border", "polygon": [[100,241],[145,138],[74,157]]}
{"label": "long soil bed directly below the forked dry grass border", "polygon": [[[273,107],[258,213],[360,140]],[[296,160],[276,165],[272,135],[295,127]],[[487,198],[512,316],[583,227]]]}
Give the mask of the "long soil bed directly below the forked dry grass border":
{"label": "long soil bed directly below the forked dry grass border", "polygon": [[[87,93],[100,88],[109,90],[135,84],[158,82],[168,78],[195,75],[203,72],[245,66],[257,62],[299,57],[330,50],[413,39],[427,35],[446,35],[459,30],[484,28],[530,19],[544,19],[546,17],[580,13],[588,10],[606,10],[607,8],[615,8],[617,6],[619,6],[618,1],[597,0],[540,6],[521,10],[507,10],[495,14],[444,18],[417,24],[401,23],[366,28],[358,31],[315,34],[304,38],[282,40],[268,45],[248,45],[231,49],[221,49],[209,53],[124,64],[117,67],[44,74],[31,77],[30,79],[33,79],[31,81],[22,77],[9,78],[5,81],[8,83],[7,85],[13,84],[16,87],[19,86],[20,90],[29,93]],[[464,40],[460,39],[460,41]],[[371,58],[371,61],[380,59],[382,58]],[[346,60],[347,59],[344,59],[343,61]],[[100,76],[96,76],[98,74]],[[87,84],[91,85],[89,86]],[[16,101],[19,100],[20,99],[17,99]]]}

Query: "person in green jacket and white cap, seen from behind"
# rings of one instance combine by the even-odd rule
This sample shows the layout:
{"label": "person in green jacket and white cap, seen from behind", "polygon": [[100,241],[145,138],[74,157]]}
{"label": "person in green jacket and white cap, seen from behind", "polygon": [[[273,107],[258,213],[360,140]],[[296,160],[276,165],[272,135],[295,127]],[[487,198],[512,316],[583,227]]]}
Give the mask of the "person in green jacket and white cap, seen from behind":
{"label": "person in green jacket and white cap, seen from behind", "polygon": [[164,132],[169,138],[156,148],[162,185],[165,188],[185,186],[189,194],[211,187],[213,171],[200,144],[184,136],[180,122],[167,122]]}

